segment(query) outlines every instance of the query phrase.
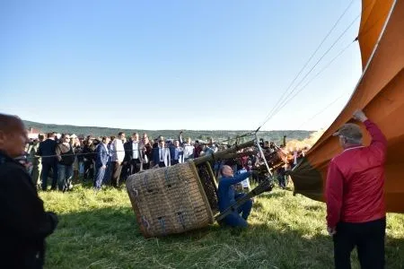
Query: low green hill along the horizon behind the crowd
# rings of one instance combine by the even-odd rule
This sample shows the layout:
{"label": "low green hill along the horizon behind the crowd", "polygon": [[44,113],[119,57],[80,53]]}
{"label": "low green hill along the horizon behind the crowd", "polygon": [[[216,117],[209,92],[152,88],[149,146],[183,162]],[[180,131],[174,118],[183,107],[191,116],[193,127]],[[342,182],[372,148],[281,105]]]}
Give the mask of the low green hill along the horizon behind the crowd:
{"label": "low green hill along the horizon behind the crowd", "polygon": [[[135,132],[140,135],[147,133],[149,137],[155,138],[158,135],[162,135],[165,138],[176,138],[180,133],[180,130],[142,130],[142,129],[118,129],[118,128],[108,128],[108,127],[96,127],[96,126],[66,126],[66,125],[55,125],[55,124],[43,124],[28,120],[23,120],[27,128],[34,128],[40,130],[41,133],[57,132],[60,134],[77,134],[77,135],[117,135],[119,132],[125,132],[128,135]],[[239,131],[226,131],[226,130],[183,130],[183,137],[190,137],[192,140],[207,140],[208,138],[214,138],[215,141],[223,141],[229,137],[235,138],[237,135],[246,134],[250,131],[239,130]],[[302,131],[302,130],[285,130],[285,131],[260,131],[259,138],[264,140],[274,141],[276,143],[281,143],[283,136],[286,135],[287,140],[298,139],[303,140],[309,137],[313,131]],[[241,141],[248,141],[252,139],[251,137],[242,138]]]}

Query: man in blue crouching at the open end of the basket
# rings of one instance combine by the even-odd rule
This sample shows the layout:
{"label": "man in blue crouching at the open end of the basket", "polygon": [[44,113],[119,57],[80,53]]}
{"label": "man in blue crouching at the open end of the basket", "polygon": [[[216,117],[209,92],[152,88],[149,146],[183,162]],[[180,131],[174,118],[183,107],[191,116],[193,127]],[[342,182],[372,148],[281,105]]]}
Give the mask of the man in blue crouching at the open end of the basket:
{"label": "man in blue crouching at the open end of the basket", "polygon": [[[219,200],[219,210],[223,213],[231,204],[235,203],[237,199],[240,199],[245,194],[237,194],[234,190],[233,185],[242,182],[245,178],[251,176],[251,172],[245,172],[237,176],[233,176],[233,169],[224,165],[220,170],[222,178],[219,181],[218,187],[218,200]],[[248,200],[244,204],[238,207],[237,213],[233,212],[224,218],[224,223],[232,227],[247,227],[247,218],[250,215],[252,207],[252,200]],[[242,215],[240,215],[242,214]]]}

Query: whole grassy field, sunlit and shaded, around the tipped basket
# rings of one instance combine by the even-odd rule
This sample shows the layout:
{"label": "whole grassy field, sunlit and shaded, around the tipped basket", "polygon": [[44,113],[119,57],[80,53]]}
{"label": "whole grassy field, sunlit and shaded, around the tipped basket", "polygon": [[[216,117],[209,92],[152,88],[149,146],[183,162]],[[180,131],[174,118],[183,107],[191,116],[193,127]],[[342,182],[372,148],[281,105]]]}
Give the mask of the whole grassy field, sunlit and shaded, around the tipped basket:
{"label": "whole grassy field, sunlit and shaded, around the tipped basket", "polygon": [[[40,196],[60,220],[45,268],[333,268],[324,204],[288,191],[256,198],[248,230],[214,224],[160,239],[139,233],[125,188]],[[404,268],[404,214],[388,215],[386,263]]]}

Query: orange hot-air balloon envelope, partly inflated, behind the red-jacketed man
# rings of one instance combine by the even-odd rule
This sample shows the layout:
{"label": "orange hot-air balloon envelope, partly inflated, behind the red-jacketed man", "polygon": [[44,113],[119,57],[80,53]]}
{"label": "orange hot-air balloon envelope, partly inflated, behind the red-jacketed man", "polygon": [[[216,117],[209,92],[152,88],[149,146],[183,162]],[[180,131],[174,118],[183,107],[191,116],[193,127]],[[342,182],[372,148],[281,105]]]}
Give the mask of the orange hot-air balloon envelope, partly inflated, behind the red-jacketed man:
{"label": "orange hot-air balloon envelope, partly inflated, behind the red-jacketed man", "polygon": [[[342,152],[332,136],[362,108],[388,140],[385,201],[404,213],[404,0],[363,0],[358,38],[363,74],[346,107],[294,168],[294,193],[324,201],[329,161]],[[364,126],[364,144],[370,136]]]}

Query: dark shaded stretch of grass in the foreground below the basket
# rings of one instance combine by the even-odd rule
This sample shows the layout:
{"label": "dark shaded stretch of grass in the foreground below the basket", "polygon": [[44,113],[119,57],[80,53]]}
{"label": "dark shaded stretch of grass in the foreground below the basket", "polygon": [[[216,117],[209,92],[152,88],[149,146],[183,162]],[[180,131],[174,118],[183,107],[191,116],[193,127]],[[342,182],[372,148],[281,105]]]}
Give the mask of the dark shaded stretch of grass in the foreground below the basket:
{"label": "dark shaded stretch of grass in the foreground below the basket", "polygon": [[[130,207],[60,214],[48,238],[46,268],[332,268],[329,237],[287,225],[218,224],[145,239]],[[283,223],[280,223],[283,224]],[[284,223],[286,224],[286,223]],[[404,239],[386,240],[387,268],[404,265]],[[354,263],[354,268],[358,268]]]}

